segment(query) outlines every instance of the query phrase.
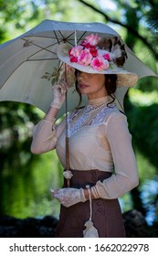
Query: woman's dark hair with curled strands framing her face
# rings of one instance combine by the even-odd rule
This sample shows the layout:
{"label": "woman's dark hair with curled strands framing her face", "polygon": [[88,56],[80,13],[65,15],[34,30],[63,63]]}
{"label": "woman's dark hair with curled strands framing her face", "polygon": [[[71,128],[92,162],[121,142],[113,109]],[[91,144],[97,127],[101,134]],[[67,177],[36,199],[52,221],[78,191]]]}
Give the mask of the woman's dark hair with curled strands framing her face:
{"label": "woman's dark hair with curled strands framing her face", "polygon": [[[78,70],[76,69],[75,70],[75,75],[77,77],[77,74],[78,74]],[[116,74],[105,74],[105,89],[108,93],[108,95],[111,96],[111,101],[108,103],[108,105],[110,105],[113,101],[115,101],[115,97],[113,96],[113,93],[116,91],[116,80],[117,80],[117,75]],[[78,91],[79,93],[79,105],[80,105],[80,102],[82,100],[82,95],[79,91],[79,88],[78,88],[78,80],[76,80],[76,91]]]}

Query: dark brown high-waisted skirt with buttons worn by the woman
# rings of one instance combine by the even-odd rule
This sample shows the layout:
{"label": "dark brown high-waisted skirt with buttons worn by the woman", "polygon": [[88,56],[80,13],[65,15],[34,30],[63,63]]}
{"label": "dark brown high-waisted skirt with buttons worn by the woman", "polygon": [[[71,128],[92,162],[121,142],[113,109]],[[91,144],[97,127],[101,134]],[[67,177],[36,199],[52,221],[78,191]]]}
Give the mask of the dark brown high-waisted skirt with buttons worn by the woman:
{"label": "dark brown high-waisted skirt with buttons worn by the woman", "polygon": [[[111,173],[99,170],[71,170],[71,172],[73,177],[70,180],[70,187],[76,188],[94,186],[98,180],[102,181],[111,176]],[[67,187],[66,180],[64,187]],[[55,237],[83,238],[83,230],[86,229],[84,224],[88,219],[90,219],[90,201],[69,208],[61,205]],[[98,229],[100,238],[125,237],[118,199],[92,199],[92,222]]]}

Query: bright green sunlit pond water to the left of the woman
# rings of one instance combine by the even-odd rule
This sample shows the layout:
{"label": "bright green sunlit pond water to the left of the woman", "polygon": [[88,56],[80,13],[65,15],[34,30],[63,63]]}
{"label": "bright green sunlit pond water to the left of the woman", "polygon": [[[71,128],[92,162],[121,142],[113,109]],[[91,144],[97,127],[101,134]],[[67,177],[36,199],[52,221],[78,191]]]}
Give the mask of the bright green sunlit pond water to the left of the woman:
{"label": "bright green sunlit pond water to the left of the woman", "polygon": [[9,165],[1,172],[1,214],[25,219],[53,215],[59,204],[51,197],[51,187],[61,187],[62,167],[55,152],[36,155],[32,167],[16,170]]}

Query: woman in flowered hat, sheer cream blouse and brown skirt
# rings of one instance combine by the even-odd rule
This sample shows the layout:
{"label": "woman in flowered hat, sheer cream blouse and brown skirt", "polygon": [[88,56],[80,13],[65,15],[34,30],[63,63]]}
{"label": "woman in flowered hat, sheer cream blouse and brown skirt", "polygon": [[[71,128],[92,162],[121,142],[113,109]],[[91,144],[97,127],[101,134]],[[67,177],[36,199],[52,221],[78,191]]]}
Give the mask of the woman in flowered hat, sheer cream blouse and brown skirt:
{"label": "woman in flowered hat, sheer cream blouse and brown skirt", "polygon": [[[120,84],[133,85],[136,76],[121,70],[126,52],[116,37],[90,35],[68,52],[63,47],[58,57],[76,68],[76,89],[87,95],[88,105],[68,114],[71,171],[64,172],[64,187],[52,190],[61,203],[56,237],[83,237],[88,219],[99,237],[125,237],[118,197],[138,186],[138,170],[126,116],[115,107],[113,93]],[[66,121],[56,125],[55,119],[67,90],[65,80],[53,87],[54,99],[31,145],[34,154],[56,148],[64,169]]]}

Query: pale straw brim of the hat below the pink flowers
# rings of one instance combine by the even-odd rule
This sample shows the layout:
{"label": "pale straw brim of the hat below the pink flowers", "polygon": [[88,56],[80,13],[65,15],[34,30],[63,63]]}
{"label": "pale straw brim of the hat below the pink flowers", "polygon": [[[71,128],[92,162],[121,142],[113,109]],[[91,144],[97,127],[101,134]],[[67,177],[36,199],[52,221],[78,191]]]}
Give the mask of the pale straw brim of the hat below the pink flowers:
{"label": "pale straw brim of the hat below the pink flowers", "polygon": [[68,50],[72,48],[67,43],[60,44],[57,48],[58,59],[62,60],[63,62],[67,63],[69,66],[73,67],[74,69],[78,69],[80,71],[86,73],[96,73],[96,74],[116,74],[117,75],[117,87],[133,87],[138,80],[138,76],[135,73],[127,71],[126,69],[119,68],[116,65],[113,65],[112,68],[106,70],[96,70],[91,68],[90,66],[83,66],[79,65],[76,62],[70,62],[68,56]]}

